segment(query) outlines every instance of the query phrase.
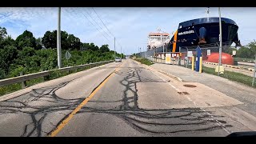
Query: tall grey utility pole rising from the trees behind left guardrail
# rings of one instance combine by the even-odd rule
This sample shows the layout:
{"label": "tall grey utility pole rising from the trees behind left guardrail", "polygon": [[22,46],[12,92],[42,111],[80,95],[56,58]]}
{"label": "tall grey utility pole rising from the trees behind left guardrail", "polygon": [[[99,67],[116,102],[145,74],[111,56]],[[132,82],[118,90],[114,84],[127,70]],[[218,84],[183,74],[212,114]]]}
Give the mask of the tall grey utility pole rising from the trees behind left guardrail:
{"label": "tall grey utility pole rising from the trees behind left guardrail", "polygon": [[58,68],[62,68],[62,46],[61,46],[61,8],[58,8],[58,30],[57,30],[57,55]]}

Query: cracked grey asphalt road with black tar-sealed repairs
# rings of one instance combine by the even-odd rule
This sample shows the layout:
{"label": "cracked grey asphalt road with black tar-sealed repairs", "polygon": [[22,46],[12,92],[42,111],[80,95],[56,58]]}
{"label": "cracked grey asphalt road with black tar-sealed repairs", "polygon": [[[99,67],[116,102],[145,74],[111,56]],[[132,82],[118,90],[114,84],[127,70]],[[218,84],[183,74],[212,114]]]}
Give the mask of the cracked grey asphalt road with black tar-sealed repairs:
{"label": "cracked grey asphalt road with black tar-sealed repairs", "polygon": [[219,110],[242,102],[186,84],[196,87],[132,59],[70,74],[0,102],[0,136],[226,136],[249,130]]}

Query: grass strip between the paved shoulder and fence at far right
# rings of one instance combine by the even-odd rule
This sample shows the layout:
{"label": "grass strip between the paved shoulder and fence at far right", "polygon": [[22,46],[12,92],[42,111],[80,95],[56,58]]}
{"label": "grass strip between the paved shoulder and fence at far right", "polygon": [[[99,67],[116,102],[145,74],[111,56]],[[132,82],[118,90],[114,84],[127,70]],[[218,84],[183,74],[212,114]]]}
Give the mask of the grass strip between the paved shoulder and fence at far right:
{"label": "grass strip between the paved shoulder and fence at far right", "polygon": [[[218,75],[218,73],[215,72],[214,68],[210,68],[210,67],[206,67],[206,66],[202,66],[202,72],[205,72],[207,74]],[[222,78],[230,79],[231,81],[241,82],[243,84],[246,84],[247,86],[252,86],[252,82],[253,82],[253,77],[250,77],[250,76],[245,75],[245,74],[235,73],[235,72],[232,72],[232,71],[226,71],[225,70],[224,74],[220,74],[220,76]],[[256,88],[256,85],[254,84],[253,87]]]}

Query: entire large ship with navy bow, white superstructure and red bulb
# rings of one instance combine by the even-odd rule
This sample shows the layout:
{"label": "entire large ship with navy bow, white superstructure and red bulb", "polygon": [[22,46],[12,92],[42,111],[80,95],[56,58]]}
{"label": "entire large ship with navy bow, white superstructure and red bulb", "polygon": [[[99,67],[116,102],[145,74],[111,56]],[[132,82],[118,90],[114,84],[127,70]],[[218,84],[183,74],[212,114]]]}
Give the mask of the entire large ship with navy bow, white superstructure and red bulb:
{"label": "entire large ship with navy bow, white superstructure and red bulb", "polygon": [[[209,8],[207,14],[209,14]],[[222,50],[225,52],[233,43],[241,46],[238,40],[238,25],[230,18],[221,18],[222,22]],[[163,52],[186,52],[194,51],[198,46],[202,49],[202,59],[204,61],[218,62],[218,47],[220,45],[220,26],[218,17],[197,18],[178,24],[173,37],[169,40],[170,34],[150,33],[148,41],[148,54],[159,54]],[[207,56],[206,50],[210,49],[211,55]],[[181,50],[181,51],[180,51]],[[184,57],[184,54],[182,54]],[[222,57],[222,63],[233,65],[234,60],[230,54]],[[214,57],[214,58],[210,58]],[[226,59],[225,59],[226,58]],[[227,62],[228,61],[228,62]]]}

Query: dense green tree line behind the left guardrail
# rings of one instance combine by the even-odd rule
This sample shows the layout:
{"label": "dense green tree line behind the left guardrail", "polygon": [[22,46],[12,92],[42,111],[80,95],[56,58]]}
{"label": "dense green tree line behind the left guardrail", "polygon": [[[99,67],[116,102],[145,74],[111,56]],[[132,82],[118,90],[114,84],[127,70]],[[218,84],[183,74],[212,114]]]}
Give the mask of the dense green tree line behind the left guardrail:
{"label": "dense green tree line behind the left guardrail", "polygon": [[[66,31],[61,31],[61,41],[62,66],[114,59],[114,51],[108,45],[98,47],[94,43],[83,43]],[[56,47],[57,30],[46,31],[42,38],[34,38],[30,31],[25,30],[14,40],[7,34],[5,27],[0,27],[0,79],[18,76],[21,71],[23,74],[31,74],[56,69]],[[66,50],[72,55],[68,61],[65,58]]]}

